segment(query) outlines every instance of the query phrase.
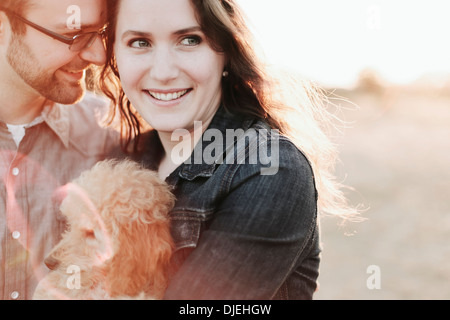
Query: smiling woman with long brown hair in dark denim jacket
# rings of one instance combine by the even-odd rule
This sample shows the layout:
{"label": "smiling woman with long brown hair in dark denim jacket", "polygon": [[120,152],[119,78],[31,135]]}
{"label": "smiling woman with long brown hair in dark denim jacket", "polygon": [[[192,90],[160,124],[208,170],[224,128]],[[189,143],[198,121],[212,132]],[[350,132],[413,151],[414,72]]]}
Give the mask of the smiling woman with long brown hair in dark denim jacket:
{"label": "smiling woman with long brown hair in dark denim jacket", "polygon": [[109,11],[102,83],[124,147],[177,197],[165,298],[311,299],[318,209],[347,209],[313,91],[300,88],[286,116],[234,0],[111,0]]}

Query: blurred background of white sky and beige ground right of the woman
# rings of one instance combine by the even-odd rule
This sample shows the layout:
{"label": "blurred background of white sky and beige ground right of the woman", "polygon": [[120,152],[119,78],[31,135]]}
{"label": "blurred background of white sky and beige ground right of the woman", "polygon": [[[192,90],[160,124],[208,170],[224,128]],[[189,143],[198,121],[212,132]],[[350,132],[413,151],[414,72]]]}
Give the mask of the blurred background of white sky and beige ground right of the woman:
{"label": "blurred background of white sky and beige ground right of the woman", "polygon": [[322,219],[315,298],[450,299],[448,0],[238,2],[267,60],[348,124],[338,177],[367,220]]}

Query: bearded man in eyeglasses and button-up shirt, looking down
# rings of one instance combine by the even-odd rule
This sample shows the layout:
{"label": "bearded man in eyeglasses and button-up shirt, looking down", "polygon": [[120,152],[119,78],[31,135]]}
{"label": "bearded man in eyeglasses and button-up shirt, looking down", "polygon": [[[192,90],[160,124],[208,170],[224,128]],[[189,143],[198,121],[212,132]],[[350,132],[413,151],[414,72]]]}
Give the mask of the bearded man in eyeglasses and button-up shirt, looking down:
{"label": "bearded man in eyeglasses and button-up shirt, looking down", "polygon": [[2,299],[32,298],[65,228],[62,187],[116,143],[84,81],[105,23],[105,0],[0,0]]}

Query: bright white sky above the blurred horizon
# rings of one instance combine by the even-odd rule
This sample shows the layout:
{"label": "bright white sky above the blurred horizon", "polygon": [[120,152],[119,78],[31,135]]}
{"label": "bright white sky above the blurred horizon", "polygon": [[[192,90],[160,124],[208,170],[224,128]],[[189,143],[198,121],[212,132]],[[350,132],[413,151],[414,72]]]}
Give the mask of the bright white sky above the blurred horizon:
{"label": "bright white sky above the blurred horizon", "polygon": [[270,62],[332,86],[450,73],[450,0],[237,0]]}

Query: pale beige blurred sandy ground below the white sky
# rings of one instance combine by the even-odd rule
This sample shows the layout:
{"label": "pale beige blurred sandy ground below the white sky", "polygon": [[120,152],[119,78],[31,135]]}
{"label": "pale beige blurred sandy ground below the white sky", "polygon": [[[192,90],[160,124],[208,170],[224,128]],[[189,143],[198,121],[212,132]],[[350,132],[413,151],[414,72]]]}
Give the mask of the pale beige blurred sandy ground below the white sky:
{"label": "pale beige blurred sandy ground below the white sky", "polygon": [[450,299],[449,91],[337,92],[358,106],[342,113],[339,177],[367,221],[322,219],[315,299]]}

